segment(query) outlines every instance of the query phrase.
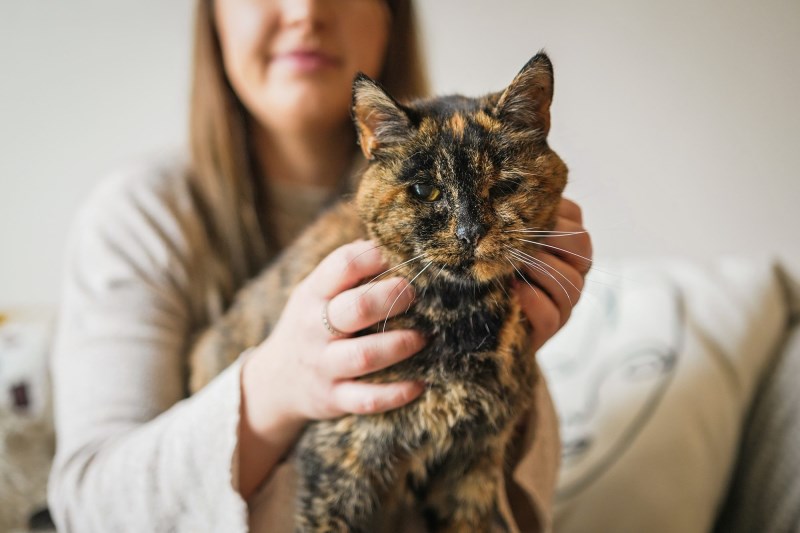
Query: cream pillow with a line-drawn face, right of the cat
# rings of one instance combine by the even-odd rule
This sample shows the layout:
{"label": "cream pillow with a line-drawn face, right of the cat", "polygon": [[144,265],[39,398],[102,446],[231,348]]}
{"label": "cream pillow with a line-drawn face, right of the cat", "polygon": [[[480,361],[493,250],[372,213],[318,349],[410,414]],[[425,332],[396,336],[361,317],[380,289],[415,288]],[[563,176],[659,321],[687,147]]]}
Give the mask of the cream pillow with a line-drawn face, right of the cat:
{"label": "cream pillow with a line-drawn face, right of the cat", "polygon": [[540,352],[559,412],[557,533],[711,529],[785,327],[768,261],[628,262],[589,277]]}

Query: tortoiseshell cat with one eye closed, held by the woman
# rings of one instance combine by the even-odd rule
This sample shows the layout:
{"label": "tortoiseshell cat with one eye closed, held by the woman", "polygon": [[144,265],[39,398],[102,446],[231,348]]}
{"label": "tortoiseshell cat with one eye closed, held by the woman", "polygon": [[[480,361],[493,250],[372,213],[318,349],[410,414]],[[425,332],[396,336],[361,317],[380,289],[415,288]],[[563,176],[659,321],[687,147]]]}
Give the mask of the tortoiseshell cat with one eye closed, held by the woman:
{"label": "tortoiseshell cat with one eye closed, held by the woman", "polygon": [[417,296],[388,327],[416,329],[429,343],[364,379],[427,389],[388,413],[307,427],[295,450],[297,531],[372,531],[377,513],[399,502],[435,531],[510,530],[497,489],[515,425],[532,408],[536,359],[508,287],[521,254],[532,253],[519,238],[553,228],[566,184],[566,166],[547,145],[552,94],[543,53],[483,98],[402,105],[359,75],[353,118],[369,165],[355,201],[312,225],[193,350],[197,390],[261,342],[292,288],[344,243],[373,239],[390,265],[403,264],[394,274]]}

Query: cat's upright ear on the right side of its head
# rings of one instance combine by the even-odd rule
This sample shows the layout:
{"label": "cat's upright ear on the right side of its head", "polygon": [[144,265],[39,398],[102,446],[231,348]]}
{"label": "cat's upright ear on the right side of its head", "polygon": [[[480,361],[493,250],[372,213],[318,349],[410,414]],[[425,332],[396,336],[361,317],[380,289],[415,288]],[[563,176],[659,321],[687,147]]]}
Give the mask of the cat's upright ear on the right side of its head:
{"label": "cat's upright ear on the right side of its head", "polygon": [[528,61],[497,101],[495,113],[514,129],[532,131],[544,140],[550,131],[553,64],[544,52]]}

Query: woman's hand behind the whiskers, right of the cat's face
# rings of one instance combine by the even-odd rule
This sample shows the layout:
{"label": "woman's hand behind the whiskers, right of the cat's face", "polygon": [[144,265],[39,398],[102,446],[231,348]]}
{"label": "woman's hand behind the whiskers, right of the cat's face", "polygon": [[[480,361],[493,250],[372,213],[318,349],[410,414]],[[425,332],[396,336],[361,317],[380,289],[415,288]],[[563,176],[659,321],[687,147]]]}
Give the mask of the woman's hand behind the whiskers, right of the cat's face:
{"label": "woman's hand behind the whiskers, right of the cat's face", "polygon": [[583,217],[578,204],[561,200],[555,232],[568,235],[553,235],[541,240],[531,253],[540,268],[525,267],[525,275],[531,282],[515,282],[522,310],[533,326],[533,345],[539,349],[561,329],[583,290],[586,273],[591,267],[592,241],[583,228]]}

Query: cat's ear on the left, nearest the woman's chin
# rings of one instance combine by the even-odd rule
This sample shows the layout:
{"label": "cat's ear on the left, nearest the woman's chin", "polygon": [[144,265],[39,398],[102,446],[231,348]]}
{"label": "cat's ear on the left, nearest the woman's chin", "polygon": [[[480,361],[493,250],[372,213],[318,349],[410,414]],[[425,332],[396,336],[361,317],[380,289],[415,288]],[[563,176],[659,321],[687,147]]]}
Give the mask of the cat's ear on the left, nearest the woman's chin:
{"label": "cat's ear on the left, nearest the woman's chin", "polygon": [[402,142],[411,132],[403,107],[366,74],[353,81],[353,122],[364,157],[374,159],[382,148]]}

